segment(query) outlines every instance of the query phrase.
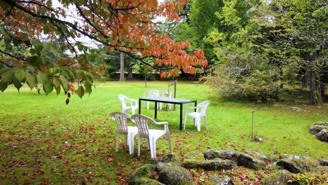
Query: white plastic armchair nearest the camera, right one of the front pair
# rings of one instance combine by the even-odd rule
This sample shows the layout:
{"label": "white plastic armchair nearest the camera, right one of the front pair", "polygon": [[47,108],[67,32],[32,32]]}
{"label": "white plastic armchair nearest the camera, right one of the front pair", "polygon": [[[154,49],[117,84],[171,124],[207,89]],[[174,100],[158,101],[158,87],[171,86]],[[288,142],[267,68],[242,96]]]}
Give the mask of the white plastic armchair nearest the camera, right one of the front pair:
{"label": "white plastic armchair nearest the camera, right one of the front pair", "polygon": [[[166,134],[168,138],[168,145],[170,149],[170,153],[172,153],[171,148],[171,139],[170,132],[168,130],[168,122],[156,122],[152,118],[141,114],[135,114],[131,116],[131,120],[137,124],[137,128],[139,131],[139,139],[138,139],[138,157],[140,156],[140,140],[141,138],[148,139],[151,151],[151,158],[156,158],[156,140],[160,138],[162,135]],[[164,125],[164,130],[155,130],[149,129],[147,122],[151,122],[154,125]]]}

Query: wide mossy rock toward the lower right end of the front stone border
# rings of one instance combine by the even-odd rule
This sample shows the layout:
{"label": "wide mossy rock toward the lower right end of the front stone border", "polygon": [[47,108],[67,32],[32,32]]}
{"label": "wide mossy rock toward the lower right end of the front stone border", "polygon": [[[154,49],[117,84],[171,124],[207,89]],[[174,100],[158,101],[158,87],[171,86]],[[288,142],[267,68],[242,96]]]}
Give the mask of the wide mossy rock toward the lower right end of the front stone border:
{"label": "wide mossy rock toward the lower right end of the front stone border", "polygon": [[320,165],[318,160],[305,156],[280,156],[277,165],[294,174],[310,172],[313,167]]}

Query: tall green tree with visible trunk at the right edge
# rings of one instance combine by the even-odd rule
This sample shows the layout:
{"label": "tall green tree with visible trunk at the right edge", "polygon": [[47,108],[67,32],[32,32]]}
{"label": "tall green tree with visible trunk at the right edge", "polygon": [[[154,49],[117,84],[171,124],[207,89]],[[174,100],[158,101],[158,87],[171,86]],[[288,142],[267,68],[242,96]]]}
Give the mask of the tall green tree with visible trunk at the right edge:
{"label": "tall green tree with visible trunk at the right edge", "polygon": [[273,0],[254,20],[261,34],[254,35],[259,51],[271,62],[303,71],[310,85],[310,102],[322,104],[322,76],[327,75],[327,1]]}

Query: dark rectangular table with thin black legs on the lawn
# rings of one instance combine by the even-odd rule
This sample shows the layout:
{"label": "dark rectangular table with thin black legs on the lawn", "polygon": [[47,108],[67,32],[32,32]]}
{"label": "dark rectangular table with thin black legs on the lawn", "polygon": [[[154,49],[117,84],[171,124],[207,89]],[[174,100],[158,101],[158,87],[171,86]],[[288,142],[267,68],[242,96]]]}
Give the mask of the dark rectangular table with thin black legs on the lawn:
{"label": "dark rectangular table with thin black legs on the lawn", "polygon": [[157,118],[157,103],[179,104],[180,105],[180,130],[182,130],[182,112],[184,104],[194,103],[197,106],[197,100],[185,100],[172,97],[142,97],[139,98],[139,114],[141,114],[141,101],[155,102],[155,118]]}

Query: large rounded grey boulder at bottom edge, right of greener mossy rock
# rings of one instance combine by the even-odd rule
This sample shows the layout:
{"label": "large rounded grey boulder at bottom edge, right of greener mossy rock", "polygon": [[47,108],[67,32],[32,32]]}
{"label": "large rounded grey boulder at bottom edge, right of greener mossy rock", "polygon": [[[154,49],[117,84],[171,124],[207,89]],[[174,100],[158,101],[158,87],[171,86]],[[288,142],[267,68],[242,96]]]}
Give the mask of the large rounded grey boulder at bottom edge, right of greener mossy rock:
{"label": "large rounded grey boulder at bottom edge, right of greener mossy rock", "polygon": [[158,167],[158,181],[167,185],[187,185],[193,184],[193,177],[186,168],[179,165],[170,165],[163,163]]}

